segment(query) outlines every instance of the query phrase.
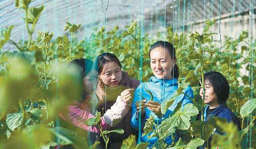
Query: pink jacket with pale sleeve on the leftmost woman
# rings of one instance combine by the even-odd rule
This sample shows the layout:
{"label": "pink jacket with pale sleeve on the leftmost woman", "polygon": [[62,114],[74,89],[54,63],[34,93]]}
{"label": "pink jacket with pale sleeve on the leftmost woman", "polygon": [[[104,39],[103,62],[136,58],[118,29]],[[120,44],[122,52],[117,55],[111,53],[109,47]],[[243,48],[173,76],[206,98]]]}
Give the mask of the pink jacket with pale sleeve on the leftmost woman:
{"label": "pink jacket with pale sleeve on the leftmost woman", "polygon": [[[90,95],[87,95],[90,96]],[[90,99],[92,97],[90,96]],[[67,114],[59,114],[62,119],[66,122],[70,122],[73,125],[85,129],[87,131],[100,133],[100,130],[96,125],[86,125],[84,122],[91,117],[94,117],[92,114],[92,109],[90,106],[90,99],[85,99],[84,102],[75,102],[73,105],[67,107]],[[110,109],[101,117],[100,125],[103,129],[108,129],[110,126],[113,127],[119,123],[123,117],[128,113],[131,106],[126,104],[120,96],[117,97],[116,102],[111,106]]]}

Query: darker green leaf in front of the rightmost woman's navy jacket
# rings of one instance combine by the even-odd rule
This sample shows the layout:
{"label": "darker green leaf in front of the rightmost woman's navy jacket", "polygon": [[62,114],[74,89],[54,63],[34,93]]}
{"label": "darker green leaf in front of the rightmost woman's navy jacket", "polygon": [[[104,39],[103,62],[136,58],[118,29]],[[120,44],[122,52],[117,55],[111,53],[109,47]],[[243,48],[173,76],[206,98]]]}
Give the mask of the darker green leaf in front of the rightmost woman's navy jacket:
{"label": "darker green leaf in front of the rightmost woman's navy jacket", "polygon": [[[213,130],[214,127],[212,124],[197,120],[191,124],[189,128],[189,133],[194,135],[195,137],[203,138],[204,141],[207,141],[212,135]],[[201,137],[201,133],[203,137]]]}

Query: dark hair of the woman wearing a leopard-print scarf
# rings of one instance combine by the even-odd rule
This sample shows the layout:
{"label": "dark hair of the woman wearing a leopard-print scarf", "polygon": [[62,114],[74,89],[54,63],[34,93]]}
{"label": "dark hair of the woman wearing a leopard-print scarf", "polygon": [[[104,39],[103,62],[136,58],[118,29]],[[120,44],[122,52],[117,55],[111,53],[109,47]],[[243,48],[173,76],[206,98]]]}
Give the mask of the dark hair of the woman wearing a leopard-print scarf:
{"label": "dark hair of the woman wearing a leopard-print scarf", "polygon": [[119,59],[111,53],[102,53],[101,55],[99,55],[97,57],[97,61],[98,61],[98,73],[99,75],[101,74],[104,66],[106,65],[107,62],[116,62],[117,65],[120,67],[120,69],[122,68],[122,65],[119,61]]}

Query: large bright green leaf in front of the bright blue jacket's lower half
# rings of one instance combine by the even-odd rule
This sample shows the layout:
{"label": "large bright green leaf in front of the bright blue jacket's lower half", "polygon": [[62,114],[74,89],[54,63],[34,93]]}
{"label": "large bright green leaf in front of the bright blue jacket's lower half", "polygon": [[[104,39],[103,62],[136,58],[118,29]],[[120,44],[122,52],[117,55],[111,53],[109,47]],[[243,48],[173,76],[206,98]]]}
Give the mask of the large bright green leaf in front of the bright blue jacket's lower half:
{"label": "large bright green leaf in front of the bright blue jacket's lower half", "polygon": [[163,120],[163,122],[157,126],[158,128],[158,135],[161,138],[165,138],[168,135],[171,135],[175,132],[175,129],[182,129],[187,130],[190,127],[189,120],[191,116],[195,116],[198,114],[197,107],[193,104],[186,104],[184,106],[184,110],[182,111],[181,108],[174,113],[171,117]]}

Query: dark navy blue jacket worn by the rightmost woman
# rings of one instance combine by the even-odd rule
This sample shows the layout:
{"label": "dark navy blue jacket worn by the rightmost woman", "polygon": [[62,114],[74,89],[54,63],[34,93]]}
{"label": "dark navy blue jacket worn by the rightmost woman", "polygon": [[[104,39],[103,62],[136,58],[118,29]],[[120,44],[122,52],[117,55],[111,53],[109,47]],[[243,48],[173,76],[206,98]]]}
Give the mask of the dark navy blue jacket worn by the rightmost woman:
{"label": "dark navy blue jacket worn by the rightmost woman", "polygon": [[[238,117],[229,109],[229,107],[227,107],[226,104],[221,104],[219,105],[219,107],[217,107],[214,111],[212,111],[212,113],[208,116],[207,116],[207,111],[209,110],[209,105],[207,105],[205,108],[204,108],[204,121],[205,122],[208,122],[209,118],[210,117],[221,117],[221,118],[224,118],[224,119],[227,119],[227,122],[233,122],[236,124],[236,126],[238,127],[238,131],[241,130],[241,124],[240,124],[240,121],[238,119]],[[200,119],[201,117],[201,113],[198,114],[197,116],[197,119]],[[216,131],[216,133],[219,133]],[[212,135],[210,136],[209,138],[209,144],[210,144],[210,141],[212,140]],[[206,147],[206,143],[204,144],[204,146]]]}

